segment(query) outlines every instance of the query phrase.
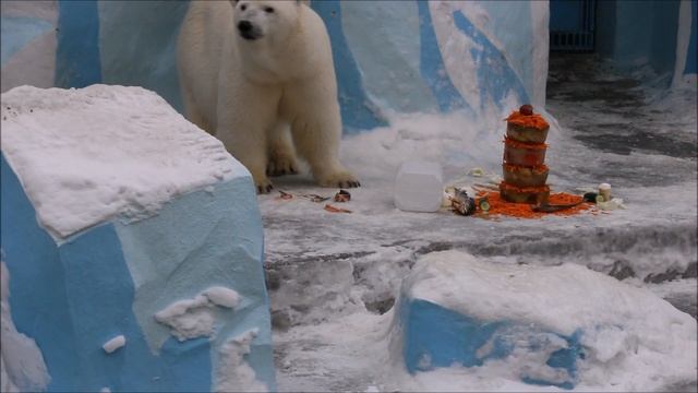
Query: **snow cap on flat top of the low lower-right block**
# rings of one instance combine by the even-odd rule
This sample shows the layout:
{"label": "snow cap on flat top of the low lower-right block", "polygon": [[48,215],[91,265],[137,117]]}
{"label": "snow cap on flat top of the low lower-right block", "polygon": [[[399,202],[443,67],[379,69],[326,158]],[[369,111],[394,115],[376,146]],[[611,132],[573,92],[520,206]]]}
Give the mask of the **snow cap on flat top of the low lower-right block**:
{"label": "snow cap on flat top of the low lower-right block", "polygon": [[[409,298],[482,320],[535,323],[564,335],[600,324],[627,325],[628,334],[637,326],[657,336],[676,331],[687,343],[696,340],[690,315],[647,289],[619,285],[578,264],[512,266],[483,263],[459,251],[433,252],[418,262],[405,286]],[[662,346],[669,348],[667,343]]]}

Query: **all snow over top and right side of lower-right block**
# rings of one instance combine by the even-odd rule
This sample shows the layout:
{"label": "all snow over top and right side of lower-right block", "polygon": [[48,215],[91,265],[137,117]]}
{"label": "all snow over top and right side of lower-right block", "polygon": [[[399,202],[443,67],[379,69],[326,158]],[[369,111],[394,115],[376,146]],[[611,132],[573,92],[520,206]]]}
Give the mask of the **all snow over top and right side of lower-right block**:
{"label": "all snow over top and right side of lower-right block", "polygon": [[[580,330],[582,390],[651,391],[689,380],[698,370],[696,352],[686,350],[698,346],[695,319],[650,290],[577,264],[512,265],[460,251],[434,252],[418,261],[404,282],[404,296],[482,321],[512,321],[567,336]],[[537,356],[516,353],[483,368],[501,368],[516,380],[522,367],[544,364],[531,358]]]}

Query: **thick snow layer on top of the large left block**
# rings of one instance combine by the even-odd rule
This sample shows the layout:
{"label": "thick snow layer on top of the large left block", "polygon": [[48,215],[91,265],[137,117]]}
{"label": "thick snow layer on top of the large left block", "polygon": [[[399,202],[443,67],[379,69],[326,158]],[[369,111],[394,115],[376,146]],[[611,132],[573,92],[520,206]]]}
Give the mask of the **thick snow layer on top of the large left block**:
{"label": "thick snow layer on top of the large left block", "polygon": [[222,143],[141,87],[3,93],[2,153],[57,239],[248,176]]}

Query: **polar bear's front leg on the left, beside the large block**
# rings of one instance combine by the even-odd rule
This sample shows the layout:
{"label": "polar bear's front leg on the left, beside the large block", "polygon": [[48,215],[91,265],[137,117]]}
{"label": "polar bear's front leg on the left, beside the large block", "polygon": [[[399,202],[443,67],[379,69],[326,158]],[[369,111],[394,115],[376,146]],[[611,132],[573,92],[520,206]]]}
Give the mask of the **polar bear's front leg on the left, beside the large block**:
{"label": "polar bear's front leg on the left, beside the large block", "polygon": [[260,193],[274,186],[266,176],[267,130],[277,122],[280,90],[230,79],[218,102],[216,136],[244,165]]}

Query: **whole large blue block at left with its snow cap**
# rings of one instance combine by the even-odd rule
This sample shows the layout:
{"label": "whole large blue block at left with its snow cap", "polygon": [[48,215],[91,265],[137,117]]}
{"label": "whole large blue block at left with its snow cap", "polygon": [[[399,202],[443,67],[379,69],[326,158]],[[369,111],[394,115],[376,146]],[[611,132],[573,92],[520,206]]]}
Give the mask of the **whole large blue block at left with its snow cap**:
{"label": "whole large blue block at left with its snow cap", "polygon": [[48,373],[13,385],[275,389],[255,189],[219,141],[143,88],[21,86],[1,170],[3,326]]}

